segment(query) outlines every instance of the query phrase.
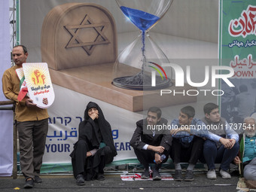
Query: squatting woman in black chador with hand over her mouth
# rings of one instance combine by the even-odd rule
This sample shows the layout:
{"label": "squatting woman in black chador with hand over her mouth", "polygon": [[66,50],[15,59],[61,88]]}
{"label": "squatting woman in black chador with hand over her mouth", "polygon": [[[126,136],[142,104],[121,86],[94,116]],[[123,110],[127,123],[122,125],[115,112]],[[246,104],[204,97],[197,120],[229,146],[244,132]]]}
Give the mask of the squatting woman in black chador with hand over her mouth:
{"label": "squatting woman in black chador with hand over her mouth", "polygon": [[79,124],[78,142],[70,154],[77,184],[83,185],[84,180],[104,180],[105,164],[111,163],[116,155],[110,124],[99,105],[89,102],[84,121]]}

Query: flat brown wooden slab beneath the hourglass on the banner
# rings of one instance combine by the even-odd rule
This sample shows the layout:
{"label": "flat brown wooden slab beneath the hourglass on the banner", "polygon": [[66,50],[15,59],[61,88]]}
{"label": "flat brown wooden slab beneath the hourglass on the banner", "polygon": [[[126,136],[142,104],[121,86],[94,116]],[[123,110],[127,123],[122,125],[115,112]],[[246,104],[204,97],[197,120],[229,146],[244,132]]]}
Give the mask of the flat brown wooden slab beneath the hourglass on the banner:
{"label": "flat brown wooden slab beneath the hourglass on the banner", "polygon": [[[140,91],[115,87],[111,84],[113,66],[114,63],[104,63],[59,71],[50,69],[50,77],[53,84],[58,84],[129,111],[143,111],[153,105],[167,107],[197,102],[197,96],[181,96],[182,92],[186,93],[187,90],[194,89],[194,87],[187,84],[184,84],[184,87],[166,87],[165,90],[171,93],[165,93],[163,96],[160,96],[160,90]],[[173,90],[179,94],[173,96]]]}

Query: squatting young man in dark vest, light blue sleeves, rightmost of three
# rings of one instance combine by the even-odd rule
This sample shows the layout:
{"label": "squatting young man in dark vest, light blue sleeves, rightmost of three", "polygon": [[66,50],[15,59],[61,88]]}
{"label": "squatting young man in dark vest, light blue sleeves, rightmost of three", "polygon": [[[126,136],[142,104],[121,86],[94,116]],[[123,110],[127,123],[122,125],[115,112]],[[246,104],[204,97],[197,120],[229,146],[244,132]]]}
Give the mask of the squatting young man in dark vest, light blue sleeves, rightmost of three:
{"label": "squatting young man in dark vest, light blue sleeves, rightmost of three", "polygon": [[233,128],[222,118],[218,111],[218,105],[209,102],[203,107],[207,130],[214,133],[215,140],[206,139],[203,145],[203,157],[208,166],[207,178],[215,179],[215,163],[221,163],[220,174],[222,178],[231,178],[228,169],[230,163],[239,151],[239,136]]}

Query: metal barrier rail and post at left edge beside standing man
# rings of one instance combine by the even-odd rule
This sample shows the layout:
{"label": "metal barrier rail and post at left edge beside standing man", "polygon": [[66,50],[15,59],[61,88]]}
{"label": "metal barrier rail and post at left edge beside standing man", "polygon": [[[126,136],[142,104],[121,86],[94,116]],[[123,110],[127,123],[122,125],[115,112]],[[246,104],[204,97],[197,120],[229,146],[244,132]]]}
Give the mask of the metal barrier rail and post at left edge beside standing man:
{"label": "metal barrier rail and post at left edge beside standing man", "polygon": [[[8,105],[8,106],[5,106]],[[10,106],[11,105],[11,106]],[[15,102],[14,101],[0,101],[0,110],[14,111],[15,117]],[[17,128],[14,124],[14,160],[13,160],[13,178],[17,178]]]}

